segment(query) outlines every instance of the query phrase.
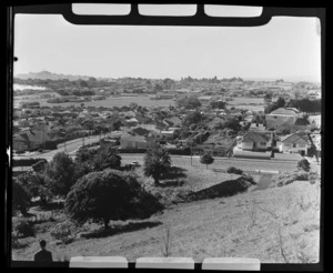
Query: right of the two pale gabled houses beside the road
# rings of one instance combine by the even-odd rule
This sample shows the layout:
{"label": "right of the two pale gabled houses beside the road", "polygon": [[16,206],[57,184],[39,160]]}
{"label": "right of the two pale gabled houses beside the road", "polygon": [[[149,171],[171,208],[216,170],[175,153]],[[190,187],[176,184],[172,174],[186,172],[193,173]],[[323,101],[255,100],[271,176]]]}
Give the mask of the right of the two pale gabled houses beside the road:
{"label": "right of the two pale gabled houses beside the road", "polygon": [[304,155],[307,154],[310,141],[304,133],[292,133],[282,138],[278,143],[278,148],[280,152],[301,153]]}

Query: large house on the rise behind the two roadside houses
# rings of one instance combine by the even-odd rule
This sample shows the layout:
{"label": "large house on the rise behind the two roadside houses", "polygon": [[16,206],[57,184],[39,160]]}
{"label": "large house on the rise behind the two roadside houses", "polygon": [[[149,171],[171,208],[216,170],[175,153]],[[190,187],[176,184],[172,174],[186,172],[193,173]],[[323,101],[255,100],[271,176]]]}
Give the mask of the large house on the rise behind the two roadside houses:
{"label": "large house on the rise behind the two roadside houses", "polygon": [[279,108],[271,113],[265,114],[266,130],[294,125],[297,118],[300,118],[300,113],[296,109]]}

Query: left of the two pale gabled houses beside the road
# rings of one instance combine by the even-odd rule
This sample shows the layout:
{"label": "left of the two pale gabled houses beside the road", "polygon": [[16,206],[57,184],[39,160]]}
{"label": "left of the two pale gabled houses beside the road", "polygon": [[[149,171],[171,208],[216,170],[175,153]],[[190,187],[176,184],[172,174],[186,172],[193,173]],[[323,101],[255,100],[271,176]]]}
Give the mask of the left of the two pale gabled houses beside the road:
{"label": "left of the two pale gabled houses beside the road", "polygon": [[242,150],[265,151],[273,144],[273,132],[268,131],[248,131],[242,139],[238,141],[240,143],[239,146]]}

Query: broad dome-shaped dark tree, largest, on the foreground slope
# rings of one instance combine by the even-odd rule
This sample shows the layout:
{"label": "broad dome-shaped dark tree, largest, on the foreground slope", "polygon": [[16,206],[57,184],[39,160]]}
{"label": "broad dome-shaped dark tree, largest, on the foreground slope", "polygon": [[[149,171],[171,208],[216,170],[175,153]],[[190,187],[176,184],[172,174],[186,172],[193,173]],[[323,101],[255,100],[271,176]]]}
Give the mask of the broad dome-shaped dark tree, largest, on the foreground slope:
{"label": "broad dome-shaped dark tree, largest, on the foreground slope", "polygon": [[133,174],[104,170],[81,178],[67,195],[64,209],[78,224],[92,221],[108,229],[110,220],[145,219],[163,206]]}

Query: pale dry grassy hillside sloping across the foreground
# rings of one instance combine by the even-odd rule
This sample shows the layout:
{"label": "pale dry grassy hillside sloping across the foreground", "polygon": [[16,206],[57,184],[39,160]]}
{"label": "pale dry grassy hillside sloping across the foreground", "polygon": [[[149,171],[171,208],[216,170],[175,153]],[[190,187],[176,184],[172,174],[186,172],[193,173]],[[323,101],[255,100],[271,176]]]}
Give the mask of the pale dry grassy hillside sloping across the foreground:
{"label": "pale dry grassy hillside sloping across the foreground", "polygon": [[[261,263],[319,261],[319,186],[296,181],[282,188],[249,191],[231,198],[171,205],[145,221],[113,222],[109,234],[95,233],[70,244],[56,245],[48,233],[54,223],[39,224],[37,237],[14,250],[14,260],[31,260],[38,241],[49,242],[57,261],[75,255],[117,255],[134,262],[140,256],[163,256],[163,236],[171,234],[170,255],[256,257]],[[58,221],[62,221],[59,219]],[[98,225],[85,226],[93,234]]]}

